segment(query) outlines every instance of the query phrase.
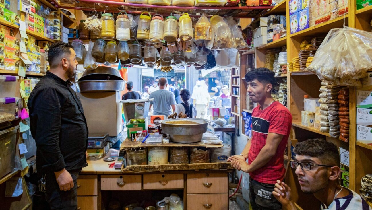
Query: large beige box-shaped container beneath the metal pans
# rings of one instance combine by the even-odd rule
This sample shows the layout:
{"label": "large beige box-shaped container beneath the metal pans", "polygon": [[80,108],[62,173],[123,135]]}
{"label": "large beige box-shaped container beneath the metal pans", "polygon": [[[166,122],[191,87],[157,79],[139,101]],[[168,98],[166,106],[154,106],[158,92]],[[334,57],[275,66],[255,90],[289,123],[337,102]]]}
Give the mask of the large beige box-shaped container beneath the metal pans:
{"label": "large beige box-shaped container beneath the metal pans", "polygon": [[122,131],[121,94],[116,92],[77,93],[90,132],[117,136]]}

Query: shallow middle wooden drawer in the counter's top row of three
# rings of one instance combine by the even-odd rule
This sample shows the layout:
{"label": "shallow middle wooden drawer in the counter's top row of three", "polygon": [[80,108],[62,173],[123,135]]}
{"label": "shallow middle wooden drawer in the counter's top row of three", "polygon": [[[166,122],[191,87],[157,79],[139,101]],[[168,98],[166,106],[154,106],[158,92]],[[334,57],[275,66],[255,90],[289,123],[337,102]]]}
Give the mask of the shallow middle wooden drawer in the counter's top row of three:
{"label": "shallow middle wooden drawer in the counter's top row of three", "polygon": [[143,188],[148,189],[182,189],[183,174],[148,174],[143,175]]}

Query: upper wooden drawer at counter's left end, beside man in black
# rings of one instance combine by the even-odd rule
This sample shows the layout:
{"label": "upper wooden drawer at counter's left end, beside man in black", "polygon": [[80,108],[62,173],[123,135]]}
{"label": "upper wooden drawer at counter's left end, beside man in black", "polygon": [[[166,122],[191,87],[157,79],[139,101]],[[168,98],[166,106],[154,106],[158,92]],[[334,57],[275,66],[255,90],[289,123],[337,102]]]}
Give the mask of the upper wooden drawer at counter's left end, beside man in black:
{"label": "upper wooden drawer at counter's left end, beside man in black", "polygon": [[78,196],[96,196],[98,195],[97,175],[79,175],[77,179]]}

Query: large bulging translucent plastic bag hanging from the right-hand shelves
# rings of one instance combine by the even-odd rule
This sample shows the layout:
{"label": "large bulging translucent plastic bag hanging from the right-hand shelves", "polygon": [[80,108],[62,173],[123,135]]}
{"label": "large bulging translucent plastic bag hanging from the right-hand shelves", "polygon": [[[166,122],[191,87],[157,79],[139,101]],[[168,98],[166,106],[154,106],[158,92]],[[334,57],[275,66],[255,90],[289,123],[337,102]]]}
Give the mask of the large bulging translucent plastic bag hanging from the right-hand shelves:
{"label": "large bulging translucent plastic bag hanging from the right-hand shelves", "polygon": [[331,29],[305,70],[337,85],[361,86],[372,68],[372,34],[344,27]]}

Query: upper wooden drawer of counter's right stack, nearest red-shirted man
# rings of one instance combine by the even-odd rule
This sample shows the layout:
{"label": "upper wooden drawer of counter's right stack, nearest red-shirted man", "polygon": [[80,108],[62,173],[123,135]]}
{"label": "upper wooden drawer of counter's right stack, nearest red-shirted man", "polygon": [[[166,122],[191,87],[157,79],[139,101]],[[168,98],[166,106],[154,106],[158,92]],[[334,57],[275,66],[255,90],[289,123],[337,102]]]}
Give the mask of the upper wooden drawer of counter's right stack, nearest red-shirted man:
{"label": "upper wooden drawer of counter's right stack, nearest red-shirted man", "polygon": [[227,173],[187,174],[187,193],[228,193]]}

